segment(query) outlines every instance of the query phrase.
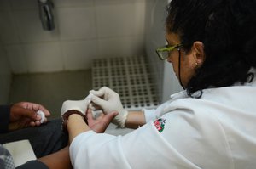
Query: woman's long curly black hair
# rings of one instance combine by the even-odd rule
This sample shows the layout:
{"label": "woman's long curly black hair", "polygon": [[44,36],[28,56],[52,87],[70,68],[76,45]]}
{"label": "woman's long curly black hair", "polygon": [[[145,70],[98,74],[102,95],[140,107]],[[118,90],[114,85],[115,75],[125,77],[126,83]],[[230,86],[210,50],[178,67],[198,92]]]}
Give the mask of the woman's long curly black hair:
{"label": "woman's long curly black hair", "polygon": [[183,50],[204,44],[206,59],[189,80],[187,93],[250,82],[256,67],[256,0],[172,0],[166,30],[177,33]]}

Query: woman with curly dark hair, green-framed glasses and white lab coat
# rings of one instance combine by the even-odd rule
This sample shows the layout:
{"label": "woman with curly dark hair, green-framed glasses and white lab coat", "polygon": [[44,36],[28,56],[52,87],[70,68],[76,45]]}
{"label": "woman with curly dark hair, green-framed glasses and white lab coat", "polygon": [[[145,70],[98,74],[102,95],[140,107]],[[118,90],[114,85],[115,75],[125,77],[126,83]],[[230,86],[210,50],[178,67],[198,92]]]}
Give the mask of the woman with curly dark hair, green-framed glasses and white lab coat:
{"label": "woman with curly dark hair, green-framed glasses and white lab coat", "polygon": [[128,112],[108,87],[90,91],[92,108],[119,114],[113,123],[137,128],[99,134],[84,117],[67,117],[74,168],[255,168],[256,1],[172,0],[167,46],[184,91],[155,110]]}

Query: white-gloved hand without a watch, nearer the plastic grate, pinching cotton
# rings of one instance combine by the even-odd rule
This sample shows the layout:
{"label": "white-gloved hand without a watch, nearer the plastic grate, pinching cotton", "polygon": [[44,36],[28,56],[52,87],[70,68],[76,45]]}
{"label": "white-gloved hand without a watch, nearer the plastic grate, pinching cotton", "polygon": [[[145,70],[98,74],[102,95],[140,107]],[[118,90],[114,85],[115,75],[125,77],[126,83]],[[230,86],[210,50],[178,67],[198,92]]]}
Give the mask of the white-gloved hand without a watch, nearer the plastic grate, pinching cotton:
{"label": "white-gloved hand without a watch, nearer the plastic grate, pinching cotton", "polygon": [[[125,127],[128,111],[123,108],[118,93],[108,87],[102,87],[98,91],[91,90],[90,93],[92,94],[91,102],[100,106],[105,114],[113,111],[119,112],[119,115],[116,115],[112,122],[119,127]],[[95,106],[92,104],[90,104],[90,108],[95,110]]]}

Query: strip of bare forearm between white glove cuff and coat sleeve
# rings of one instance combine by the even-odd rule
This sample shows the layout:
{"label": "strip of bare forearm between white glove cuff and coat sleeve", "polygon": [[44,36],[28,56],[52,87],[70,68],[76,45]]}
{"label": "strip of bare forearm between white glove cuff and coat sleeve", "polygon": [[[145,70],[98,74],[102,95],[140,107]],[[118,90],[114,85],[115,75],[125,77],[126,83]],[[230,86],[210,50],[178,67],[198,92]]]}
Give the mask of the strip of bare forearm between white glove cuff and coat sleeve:
{"label": "strip of bare forearm between white glove cuff and coat sleeve", "polygon": [[130,111],[125,121],[125,127],[138,128],[146,123],[145,115],[142,111]]}

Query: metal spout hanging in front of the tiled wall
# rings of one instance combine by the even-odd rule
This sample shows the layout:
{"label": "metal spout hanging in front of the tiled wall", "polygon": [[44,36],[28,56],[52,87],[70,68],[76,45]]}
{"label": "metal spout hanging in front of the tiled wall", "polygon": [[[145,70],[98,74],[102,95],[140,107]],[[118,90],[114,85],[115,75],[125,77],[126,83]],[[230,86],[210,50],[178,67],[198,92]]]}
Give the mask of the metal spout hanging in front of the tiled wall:
{"label": "metal spout hanging in front of the tiled wall", "polygon": [[51,0],[38,0],[39,17],[45,31],[55,29],[55,21],[53,16],[54,3]]}

